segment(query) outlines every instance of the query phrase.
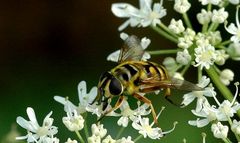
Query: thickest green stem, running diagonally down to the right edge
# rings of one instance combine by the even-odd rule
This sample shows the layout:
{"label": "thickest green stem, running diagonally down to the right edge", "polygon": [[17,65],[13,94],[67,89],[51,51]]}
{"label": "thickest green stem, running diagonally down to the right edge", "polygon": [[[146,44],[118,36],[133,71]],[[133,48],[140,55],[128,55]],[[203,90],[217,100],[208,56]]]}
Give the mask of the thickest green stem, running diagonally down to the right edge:
{"label": "thickest green stem, running diagonally down to the right edge", "polygon": [[[220,78],[218,76],[217,71],[214,69],[214,67],[210,67],[209,69],[206,69],[207,74],[212,79],[213,83],[216,85],[218,90],[221,92],[223,97],[229,101],[233,100],[233,95],[231,91],[220,81]],[[240,117],[240,110],[237,112],[238,117]]]}

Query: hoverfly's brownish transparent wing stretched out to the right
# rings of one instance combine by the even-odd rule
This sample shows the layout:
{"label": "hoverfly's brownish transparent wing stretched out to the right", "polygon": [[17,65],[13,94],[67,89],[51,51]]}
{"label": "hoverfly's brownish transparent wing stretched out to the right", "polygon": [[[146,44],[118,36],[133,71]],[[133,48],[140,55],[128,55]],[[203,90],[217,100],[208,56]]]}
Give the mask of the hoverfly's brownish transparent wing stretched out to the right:
{"label": "hoverfly's brownish transparent wing stretched out to the right", "polygon": [[[151,77],[141,81],[142,88],[161,89],[172,88],[186,91],[201,91],[203,88],[197,86],[186,80],[180,80],[177,78],[170,78],[169,80],[161,80],[158,77]],[[145,87],[144,87],[145,86]]]}

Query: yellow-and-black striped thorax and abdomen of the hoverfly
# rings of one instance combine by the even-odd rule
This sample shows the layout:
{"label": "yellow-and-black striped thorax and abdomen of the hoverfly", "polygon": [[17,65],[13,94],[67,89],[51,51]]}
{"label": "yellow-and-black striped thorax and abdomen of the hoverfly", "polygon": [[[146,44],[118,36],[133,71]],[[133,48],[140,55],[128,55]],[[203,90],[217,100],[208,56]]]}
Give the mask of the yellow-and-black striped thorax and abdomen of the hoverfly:
{"label": "yellow-and-black striped thorax and abdomen of the hoverfly", "polygon": [[126,61],[110,72],[121,81],[127,94],[138,92],[141,81],[146,79],[168,80],[167,71],[163,66],[148,61]]}

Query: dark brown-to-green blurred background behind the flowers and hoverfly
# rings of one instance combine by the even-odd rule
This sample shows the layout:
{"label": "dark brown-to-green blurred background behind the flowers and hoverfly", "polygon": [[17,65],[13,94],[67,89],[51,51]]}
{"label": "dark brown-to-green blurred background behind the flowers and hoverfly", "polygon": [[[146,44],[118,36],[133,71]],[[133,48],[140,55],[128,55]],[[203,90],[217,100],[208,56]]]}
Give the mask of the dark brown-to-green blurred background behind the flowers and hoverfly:
{"label": "dark brown-to-green blurred background behind the flowers and hoverfly", "polygon": [[[86,80],[89,89],[97,85],[103,71],[115,65],[107,62],[106,57],[122,45],[117,28],[124,20],[111,13],[113,2],[116,1],[0,2],[0,139],[10,131],[17,116],[27,117],[28,106],[35,109],[40,124],[53,110],[54,124],[59,126],[58,137],[63,139],[61,142],[67,139],[69,132],[61,122],[65,113],[53,96],[69,96],[70,100],[78,103],[78,83]],[[138,6],[138,1],[132,4]],[[164,6],[172,4],[172,1],[166,2]],[[166,24],[171,15],[168,13],[164,17]],[[139,37],[148,36],[152,40],[151,49],[174,47],[148,28],[128,28],[125,32]],[[162,61],[159,58],[154,60]],[[182,142],[183,138],[188,142],[201,142],[201,132],[209,128],[198,130],[187,125],[187,120],[195,119],[189,111],[193,106],[179,109],[159,98],[157,104],[169,106],[160,119],[164,128],[168,130],[174,121],[179,121],[176,132],[166,136],[162,142]],[[106,119],[106,122],[110,120]],[[111,128],[111,125],[106,126]],[[19,127],[18,130],[23,135],[26,133]],[[70,136],[75,137],[74,134]],[[212,138],[209,133],[207,139]]]}

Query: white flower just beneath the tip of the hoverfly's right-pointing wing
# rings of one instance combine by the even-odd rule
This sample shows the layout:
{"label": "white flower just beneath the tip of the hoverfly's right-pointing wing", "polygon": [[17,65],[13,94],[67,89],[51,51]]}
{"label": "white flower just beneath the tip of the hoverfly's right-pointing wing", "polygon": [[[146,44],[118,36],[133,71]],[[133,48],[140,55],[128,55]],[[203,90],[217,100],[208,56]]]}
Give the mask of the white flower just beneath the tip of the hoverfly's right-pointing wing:
{"label": "white flower just beneath the tip of the hoverfly's right-pointing wing", "polygon": [[195,98],[197,98],[197,107],[196,111],[199,112],[202,109],[203,103],[207,100],[205,96],[212,97],[216,94],[213,87],[207,87],[210,83],[210,79],[206,76],[203,76],[202,79],[199,81],[197,86],[203,88],[202,91],[192,91],[190,93],[184,94],[182,105],[187,106]]}

